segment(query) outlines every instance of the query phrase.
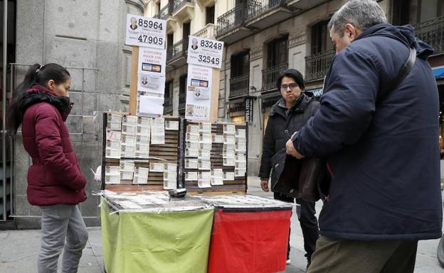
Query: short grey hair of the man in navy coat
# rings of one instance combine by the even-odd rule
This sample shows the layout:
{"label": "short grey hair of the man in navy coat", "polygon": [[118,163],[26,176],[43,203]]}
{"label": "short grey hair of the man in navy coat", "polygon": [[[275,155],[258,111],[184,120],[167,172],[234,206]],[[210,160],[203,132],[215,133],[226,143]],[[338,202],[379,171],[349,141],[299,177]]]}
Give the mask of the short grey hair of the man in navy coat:
{"label": "short grey hair of the man in navy coat", "polygon": [[334,30],[344,37],[347,23],[364,31],[379,23],[387,23],[386,15],[374,0],[351,0],[335,12],[328,23],[328,29]]}

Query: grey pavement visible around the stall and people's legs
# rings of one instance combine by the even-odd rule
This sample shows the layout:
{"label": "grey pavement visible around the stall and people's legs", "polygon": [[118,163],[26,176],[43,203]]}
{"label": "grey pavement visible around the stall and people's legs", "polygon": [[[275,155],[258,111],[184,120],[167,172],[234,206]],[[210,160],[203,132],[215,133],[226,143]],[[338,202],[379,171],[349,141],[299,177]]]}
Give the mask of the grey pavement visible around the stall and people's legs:
{"label": "grey pavement visible around the stall and people's legs", "polygon": [[[273,198],[273,193],[265,193],[260,189],[260,181],[257,177],[248,177],[248,194]],[[318,216],[321,208],[322,202],[319,201],[316,204]],[[307,260],[304,257],[302,230],[295,211],[291,218],[291,226],[290,259],[292,263],[287,266],[285,272],[281,273],[302,273],[305,272]],[[88,232],[90,237],[83,250],[78,273],[104,273],[100,227],[88,228]],[[39,240],[40,230],[0,230],[0,273],[37,273]],[[439,240],[427,240],[419,243],[415,273],[444,272],[436,258],[438,242]]]}

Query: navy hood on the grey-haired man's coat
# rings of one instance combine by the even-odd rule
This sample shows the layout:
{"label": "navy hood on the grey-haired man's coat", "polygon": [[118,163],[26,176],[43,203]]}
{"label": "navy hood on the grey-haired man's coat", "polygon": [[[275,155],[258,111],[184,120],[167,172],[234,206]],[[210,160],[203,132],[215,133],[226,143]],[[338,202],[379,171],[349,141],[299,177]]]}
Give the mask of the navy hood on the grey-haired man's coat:
{"label": "navy hood on the grey-haired man's coat", "polygon": [[380,23],[364,30],[364,32],[362,32],[361,35],[356,38],[356,40],[370,36],[385,36],[400,41],[408,48],[413,46],[416,49],[416,56],[424,60],[427,59],[428,56],[432,55],[434,51],[430,45],[416,38],[415,28],[410,25],[393,26],[388,23]]}

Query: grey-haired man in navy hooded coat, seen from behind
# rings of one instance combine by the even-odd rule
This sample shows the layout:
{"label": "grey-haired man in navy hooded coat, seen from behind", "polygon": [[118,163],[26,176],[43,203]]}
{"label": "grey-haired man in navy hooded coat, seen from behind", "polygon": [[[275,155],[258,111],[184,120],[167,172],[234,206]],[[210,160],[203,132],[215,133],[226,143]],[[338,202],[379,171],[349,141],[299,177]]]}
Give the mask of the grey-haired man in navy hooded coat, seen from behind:
{"label": "grey-haired man in navy hooded coat, seen from behind", "polygon": [[[297,158],[327,157],[332,177],[308,272],[413,272],[418,240],[441,236],[433,48],[371,0],[348,1],[329,30],[337,55],[320,108],[287,142]],[[410,48],[413,69],[379,101]]]}

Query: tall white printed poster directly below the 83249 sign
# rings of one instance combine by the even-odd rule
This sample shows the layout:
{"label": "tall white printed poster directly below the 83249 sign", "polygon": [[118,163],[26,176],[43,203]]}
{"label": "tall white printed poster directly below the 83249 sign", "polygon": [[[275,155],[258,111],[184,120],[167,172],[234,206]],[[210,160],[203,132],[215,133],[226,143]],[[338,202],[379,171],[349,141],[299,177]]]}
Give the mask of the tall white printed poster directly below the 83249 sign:
{"label": "tall white printed poster directly below the 83249 sign", "polygon": [[188,66],[185,118],[209,121],[212,79],[213,69],[211,67]]}

